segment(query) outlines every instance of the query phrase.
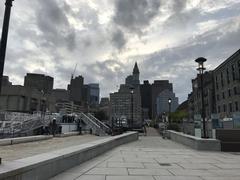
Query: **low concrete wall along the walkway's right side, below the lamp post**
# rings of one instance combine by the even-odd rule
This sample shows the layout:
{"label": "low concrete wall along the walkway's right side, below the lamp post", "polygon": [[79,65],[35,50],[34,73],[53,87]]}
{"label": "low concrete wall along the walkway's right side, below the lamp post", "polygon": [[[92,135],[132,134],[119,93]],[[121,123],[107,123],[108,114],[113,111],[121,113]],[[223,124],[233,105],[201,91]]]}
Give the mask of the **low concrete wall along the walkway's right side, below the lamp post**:
{"label": "low concrete wall along the walkway's right side, below the lamp post", "polygon": [[196,150],[221,151],[221,144],[217,139],[203,139],[170,130],[168,131],[168,136],[171,140]]}

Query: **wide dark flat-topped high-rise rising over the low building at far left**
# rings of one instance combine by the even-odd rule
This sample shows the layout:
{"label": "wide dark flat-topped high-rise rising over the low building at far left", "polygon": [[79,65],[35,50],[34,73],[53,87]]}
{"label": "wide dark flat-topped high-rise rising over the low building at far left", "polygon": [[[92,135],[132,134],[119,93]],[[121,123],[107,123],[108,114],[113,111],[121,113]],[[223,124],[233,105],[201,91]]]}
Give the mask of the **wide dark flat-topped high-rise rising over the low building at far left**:
{"label": "wide dark flat-topped high-rise rising over the low building at far left", "polygon": [[44,94],[51,94],[54,79],[44,74],[27,73],[24,77],[24,87],[35,88]]}

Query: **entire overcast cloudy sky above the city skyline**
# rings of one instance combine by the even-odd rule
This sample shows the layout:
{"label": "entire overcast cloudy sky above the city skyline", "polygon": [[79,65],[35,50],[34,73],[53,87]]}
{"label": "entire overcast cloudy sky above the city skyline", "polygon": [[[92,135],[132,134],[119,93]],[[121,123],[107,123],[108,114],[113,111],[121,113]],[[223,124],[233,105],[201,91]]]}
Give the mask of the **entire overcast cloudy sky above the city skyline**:
{"label": "entire overcast cloudy sky above the city skyline", "polygon": [[66,88],[77,64],[108,96],[137,61],[141,81],[169,79],[183,101],[194,59],[213,69],[240,48],[239,12],[240,0],[15,0],[4,73],[14,84],[44,73]]}

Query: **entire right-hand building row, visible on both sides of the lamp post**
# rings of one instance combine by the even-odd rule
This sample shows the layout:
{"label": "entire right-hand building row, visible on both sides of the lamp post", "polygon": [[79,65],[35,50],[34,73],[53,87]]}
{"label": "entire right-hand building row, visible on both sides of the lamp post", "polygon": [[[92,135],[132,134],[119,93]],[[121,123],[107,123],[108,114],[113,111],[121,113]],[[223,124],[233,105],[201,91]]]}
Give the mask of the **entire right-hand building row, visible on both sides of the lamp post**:
{"label": "entire right-hand building row, visible on both sides of the lamp post", "polygon": [[[192,80],[192,93],[188,96],[189,118],[202,113],[200,75]],[[207,119],[232,118],[240,112],[240,50],[213,71],[203,74],[203,95]]]}

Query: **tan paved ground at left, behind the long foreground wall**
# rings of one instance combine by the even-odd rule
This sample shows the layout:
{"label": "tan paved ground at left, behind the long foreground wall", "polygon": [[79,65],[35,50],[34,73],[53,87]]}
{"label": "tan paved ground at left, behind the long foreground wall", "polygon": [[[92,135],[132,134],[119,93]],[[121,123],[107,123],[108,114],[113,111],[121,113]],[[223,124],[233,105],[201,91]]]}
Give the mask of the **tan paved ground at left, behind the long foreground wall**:
{"label": "tan paved ground at left, behind the long foreground wall", "polygon": [[12,161],[62,148],[67,148],[70,146],[84,144],[102,138],[104,137],[81,135],[64,138],[52,138],[49,140],[14,144],[9,146],[0,146],[0,157],[3,161]]}

